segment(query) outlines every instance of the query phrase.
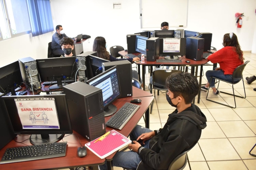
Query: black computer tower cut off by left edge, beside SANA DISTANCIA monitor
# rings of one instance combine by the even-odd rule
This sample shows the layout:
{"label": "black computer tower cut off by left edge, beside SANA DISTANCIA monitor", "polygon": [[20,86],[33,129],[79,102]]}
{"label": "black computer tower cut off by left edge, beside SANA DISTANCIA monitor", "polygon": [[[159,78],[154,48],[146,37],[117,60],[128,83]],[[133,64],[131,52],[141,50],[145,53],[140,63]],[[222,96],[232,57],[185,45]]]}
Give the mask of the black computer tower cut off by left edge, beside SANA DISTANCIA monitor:
{"label": "black computer tower cut off by left edge, beside SANA DISTANCIA monitor", "polygon": [[0,93],[0,150],[16,136],[12,131],[12,125],[6,113],[5,104],[1,100],[2,96],[4,94]]}

